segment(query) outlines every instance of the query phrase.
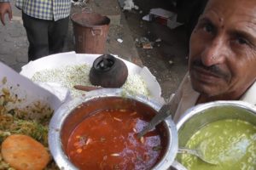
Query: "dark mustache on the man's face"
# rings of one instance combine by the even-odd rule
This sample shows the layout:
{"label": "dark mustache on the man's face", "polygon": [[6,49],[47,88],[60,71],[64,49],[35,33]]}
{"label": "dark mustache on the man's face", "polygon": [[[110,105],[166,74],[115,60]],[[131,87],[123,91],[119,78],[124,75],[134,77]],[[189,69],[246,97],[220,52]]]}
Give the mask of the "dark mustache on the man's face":
{"label": "dark mustache on the man's face", "polygon": [[223,71],[218,65],[206,66],[201,62],[201,59],[196,59],[192,62],[192,67],[201,67],[202,69],[211,72],[213,75],[218,77],[227,78],[230,77],[229,73]]}

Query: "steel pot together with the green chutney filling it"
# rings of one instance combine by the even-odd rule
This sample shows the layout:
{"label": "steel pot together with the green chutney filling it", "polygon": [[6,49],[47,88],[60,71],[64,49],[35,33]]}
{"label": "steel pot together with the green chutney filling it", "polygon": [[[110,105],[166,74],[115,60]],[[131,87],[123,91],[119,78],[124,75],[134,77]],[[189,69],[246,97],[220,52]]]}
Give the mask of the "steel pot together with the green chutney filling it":
{"label": "steel pot together with the green chutney filling it", "polygon": [[180,148],[201,150],[212,165],[197,156],[180,154],[189,170],[256,169],[256,109],[240,101],[198,105],[177,122]]}

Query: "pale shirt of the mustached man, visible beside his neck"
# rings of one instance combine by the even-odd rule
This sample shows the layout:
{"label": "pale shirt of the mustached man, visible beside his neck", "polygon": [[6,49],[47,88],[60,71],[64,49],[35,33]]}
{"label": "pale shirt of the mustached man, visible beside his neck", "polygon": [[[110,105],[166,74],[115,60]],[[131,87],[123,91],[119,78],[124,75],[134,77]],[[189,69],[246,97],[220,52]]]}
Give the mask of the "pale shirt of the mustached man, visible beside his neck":
{"label": "pale shirt of the mustached man, visible beside his neck", "polygon": [[[239,100],[256,105],[255,94],[256,82],[254,82],[253,85],[247,89],[247,92],[243,94]],[[174,122],[177,123],[185,111],[195,106],[199,95],[200,94],[192,88],[189,73],[187,73],[172,100],[173,105],[176,108],[175,114],[173,115]]]}

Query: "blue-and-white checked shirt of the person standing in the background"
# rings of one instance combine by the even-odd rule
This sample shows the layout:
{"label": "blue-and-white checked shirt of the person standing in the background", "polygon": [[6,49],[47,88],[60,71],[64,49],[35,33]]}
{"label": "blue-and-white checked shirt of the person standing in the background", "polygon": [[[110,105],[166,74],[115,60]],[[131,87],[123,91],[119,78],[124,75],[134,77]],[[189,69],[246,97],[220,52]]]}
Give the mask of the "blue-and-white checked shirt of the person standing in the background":
{"label": "blue-and-white checked shirt of the person standing in the background", "polygon": [[[9,0],[0,0],[0,2],[9,2]],[[16,0],[15,5],[31,17],[60,20],[69,16],[71,0]]]}

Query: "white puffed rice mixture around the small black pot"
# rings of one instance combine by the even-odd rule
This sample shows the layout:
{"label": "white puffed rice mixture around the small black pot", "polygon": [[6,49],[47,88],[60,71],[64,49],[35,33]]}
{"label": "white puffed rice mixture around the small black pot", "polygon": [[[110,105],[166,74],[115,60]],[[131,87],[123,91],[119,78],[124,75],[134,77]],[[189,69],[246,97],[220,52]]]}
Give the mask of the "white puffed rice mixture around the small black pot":
{"label": "white puffed rice mixture around the small black pot", "polygon": [[[93,86],[89,79],[90,65],[67,65],[56,69],[38,71],[32,76],[33,82],[55,82],[69,88],[72,97],[84,94],[83,91],[73,88],[75,85]],[[150,96],[146,82],[138,74],[130,74],[121,87],[133,94]]]}

